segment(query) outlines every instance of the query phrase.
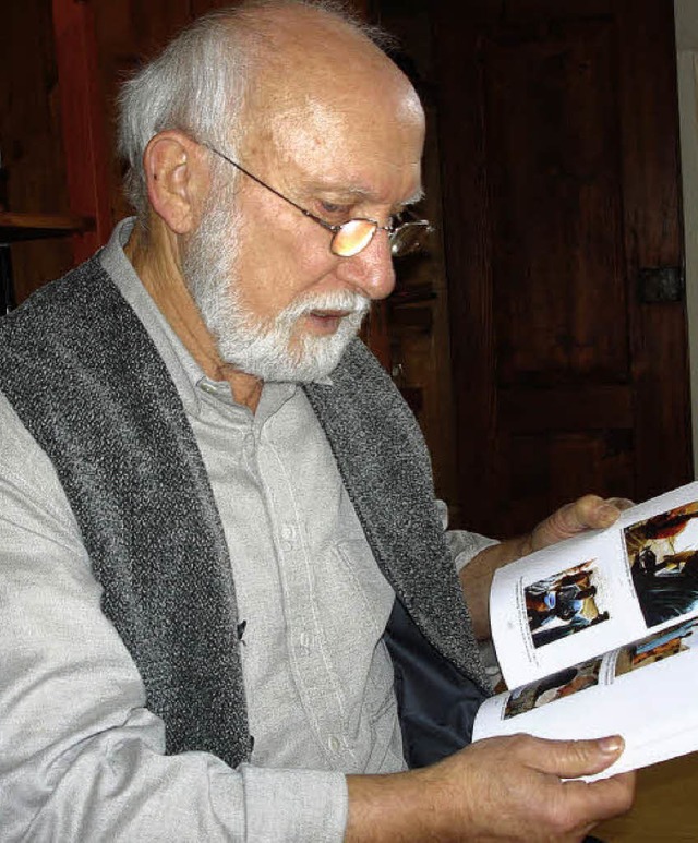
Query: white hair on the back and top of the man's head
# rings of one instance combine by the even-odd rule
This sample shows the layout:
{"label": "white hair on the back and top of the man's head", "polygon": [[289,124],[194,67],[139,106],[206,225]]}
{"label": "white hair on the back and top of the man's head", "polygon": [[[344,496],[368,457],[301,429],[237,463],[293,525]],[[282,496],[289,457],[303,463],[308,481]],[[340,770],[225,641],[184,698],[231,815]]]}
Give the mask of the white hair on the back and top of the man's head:
{"label": "white hair on the back and top of the man's head", "polygon": [[[362,24],[334,0],[252,0],[194,21],[125,82],[119,97],[124,192],[142,222],[147,216],[143,154],[151,139],[177,129],[234,155],[242,137],[240,118],[248,84],[255,60],[268,46],[268,27],[256,12],[289,7],[333,15],[378,47],[392,43],[378,27]],[[214,178],[217,172],[214,165]]]}

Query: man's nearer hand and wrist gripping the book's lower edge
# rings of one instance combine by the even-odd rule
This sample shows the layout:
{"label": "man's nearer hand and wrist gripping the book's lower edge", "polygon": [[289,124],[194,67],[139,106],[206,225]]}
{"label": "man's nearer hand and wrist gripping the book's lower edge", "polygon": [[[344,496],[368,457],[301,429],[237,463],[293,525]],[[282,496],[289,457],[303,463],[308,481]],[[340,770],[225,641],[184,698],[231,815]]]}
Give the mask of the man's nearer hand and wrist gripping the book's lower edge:
{"label": "man's nearer hand and wrist gripping the book's lower edge", "polygon": [[619,737],[514,735],[480,740],[423,770],[349,776],[346,841],[580,841],[631,805],[633,773],[574,781],[605,770],[622,749]]}

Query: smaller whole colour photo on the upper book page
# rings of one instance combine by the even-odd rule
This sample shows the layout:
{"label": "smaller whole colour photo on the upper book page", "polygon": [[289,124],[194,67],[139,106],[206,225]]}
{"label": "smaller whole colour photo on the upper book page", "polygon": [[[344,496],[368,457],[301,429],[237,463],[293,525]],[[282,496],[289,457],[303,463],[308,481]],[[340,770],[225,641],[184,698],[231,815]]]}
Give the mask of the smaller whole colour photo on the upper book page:
{"label": "smaller whole colour photo on the upper book page", "polygon": [[534,647],[543,647],[609,619],[599,605],[594,561],[575,565],[524,589]]}

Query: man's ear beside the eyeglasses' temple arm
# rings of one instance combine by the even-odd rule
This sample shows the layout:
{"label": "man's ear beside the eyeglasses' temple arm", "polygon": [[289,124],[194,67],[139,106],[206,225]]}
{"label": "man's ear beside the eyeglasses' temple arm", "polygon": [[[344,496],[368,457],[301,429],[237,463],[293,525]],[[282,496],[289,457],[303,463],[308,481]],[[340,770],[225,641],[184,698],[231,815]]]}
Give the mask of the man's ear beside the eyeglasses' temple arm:
{"label": "man's ear beside the eyeglasses' temple arm", "polygon": [[176,234],[192,231],[209,188],[201,146],[183,132],[160,132],[145,148],[143,169],[153,210]]}

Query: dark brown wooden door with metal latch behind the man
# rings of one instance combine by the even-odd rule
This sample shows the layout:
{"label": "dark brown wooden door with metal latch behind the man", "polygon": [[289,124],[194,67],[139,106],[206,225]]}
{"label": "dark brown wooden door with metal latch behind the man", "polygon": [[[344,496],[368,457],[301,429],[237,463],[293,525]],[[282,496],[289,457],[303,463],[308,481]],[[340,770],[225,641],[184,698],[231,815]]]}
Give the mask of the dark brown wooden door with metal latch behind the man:
{"label": "dark brown wooden door with metal latch behind the man", "polygon": [[432,15],[467,523],[689,480],[672,3]]}

